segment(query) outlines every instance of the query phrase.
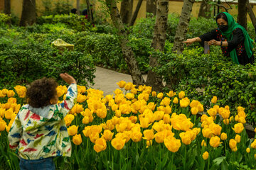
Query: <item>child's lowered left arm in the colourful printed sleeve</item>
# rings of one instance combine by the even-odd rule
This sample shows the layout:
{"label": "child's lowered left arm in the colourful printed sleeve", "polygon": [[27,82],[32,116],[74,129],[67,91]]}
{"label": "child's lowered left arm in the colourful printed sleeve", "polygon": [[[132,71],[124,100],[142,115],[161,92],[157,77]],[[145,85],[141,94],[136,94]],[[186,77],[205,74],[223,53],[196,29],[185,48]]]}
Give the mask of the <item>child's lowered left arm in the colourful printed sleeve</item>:
{"label": "child's lowered left arm in the colourful printed sleeve", "polygon": [[16,115],[14,123],[11,125],[11,129],[8,134],[9,147],[13,150],[18,147],[22,136],[22,125],[21,120],[19,120],[19,113],[20,112]]}

